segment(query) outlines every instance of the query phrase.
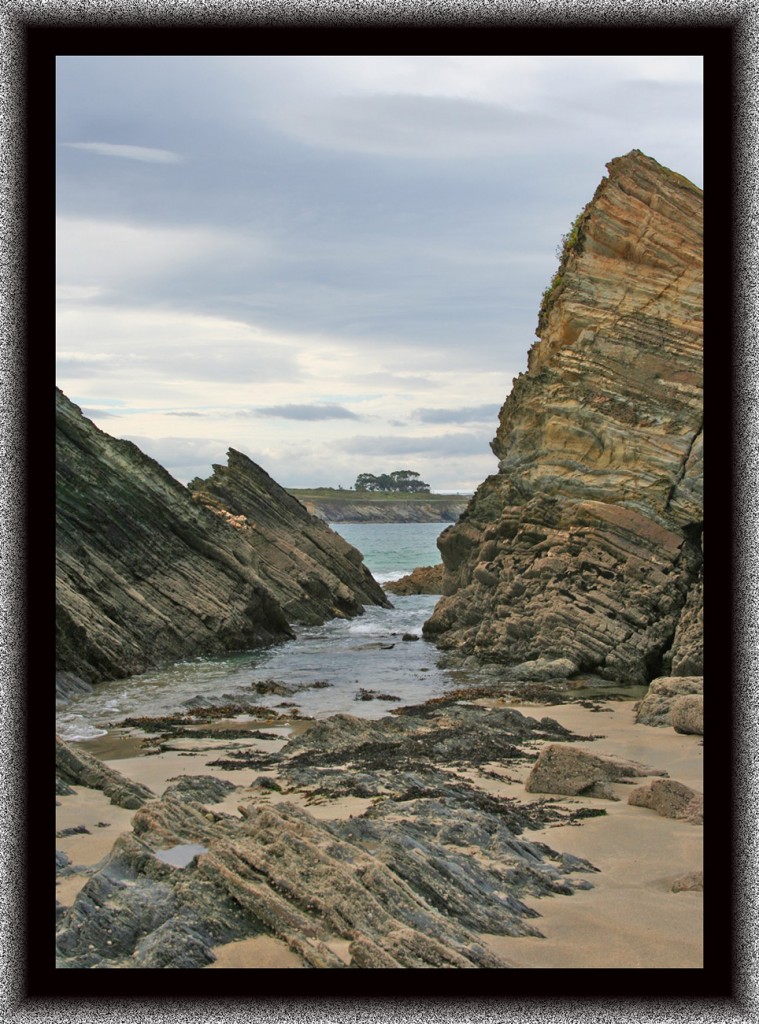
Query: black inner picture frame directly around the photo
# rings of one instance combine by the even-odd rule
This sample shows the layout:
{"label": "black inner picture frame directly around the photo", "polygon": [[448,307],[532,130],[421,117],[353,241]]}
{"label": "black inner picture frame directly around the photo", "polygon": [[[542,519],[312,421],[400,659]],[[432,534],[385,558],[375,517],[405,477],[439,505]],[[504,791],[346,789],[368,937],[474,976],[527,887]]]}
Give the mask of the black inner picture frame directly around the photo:
{"label": "black inner picture frame directly around the photo", "polygon": [[[746,777],[749,752],[745,737],[733,737],[734,717],[753,699],[746,676],[751,652],[736,636],[746,621],[751,581],[742,573],[746,557],[747,510],[742,474],[751,470],[746,427],[751,411],[746,374],[747,350],[739,343],[735,318],[747,234],[741,232],[742,152],[756,145],[741,122],[746,111],[748,14],[722,16],[707,9],[688,19],[676,18],[664,5],[648,20],[630,15],[622,4],[602,13],[554,16],[539,22],[517,5],[409,5],[403,13],[377,4],[351,16],[350,8],[295,8],[261,4],[253,15],[246,5],[226,4],[206,13],[202,5],[179,18],[152,13],[140,4],[118,8],[92,4],[84,16],[39,5],[18,5],[11,18],[9,63],[12,95],[4,119],[15,140],[11,174],[15,228],[6,286],[14,305],[6,317],[13,346],[8,381],[12,409],[4,419],[11,443],[6,472],[17,508],[7,520],[26,551],[24,571],[9,580],[15,613],[6,669],[11,689],[3,750],[9,766],[11,796],[9,864],[4,883],[10,915],[6,969],[12,976],[14,1019],[42,1008],[50,1019],[141,1019],[161,1011],[165,1019],[283,1020],[493,1020],[524,1018],[675,1019],[687,1009],[739,1012],[745,1004],[745,980],[751,965],[745,955],[748,922],[741,915],[745,868],[737,871],[745,802],[736,782]],[[516,13],[509,14],[511,7]],[[506,8],[506,9],[504,9]],[[160,8],[152,8],[158,10]],[[689,11],[689,14],[693,14]],[[223,15],[223,16],[222,16]],[[347,47],[347,48],[346,48]],[[705,889],[707,964],[695,971],[549,972],[299,972],[283,991],[277,972],[216,971],[133,972],[56,970],[53,959],[54,879],[50,827],[54,777],[52,701],[42,696],[54,673],[51,638],[54,593],[52,507],[54,453],[54,59],[62,53],[249,53],[249,52],[511,52],[681,53],[705,59],[706,135],[706,329],[707,389],[707,700],[710,703],[706,748],[707,866]],[[614,156],[609,155],[609,158]],[[744,183],[744,195],[746,186]],[[25,290],[12,284],[17,274]],[[745,327],[745,326],[744,326]],[[728,458],[727,453],[732,453]],[[752,470],[753,471],[753,470]],[[743,540],[742,540],[743,539]],[[721,641],[721,642],[720,642]],[[50,683],[47,682],[50,680]],[[731,681],[732,684],[731,685]],[[37,695],[39,687],[40,697]],[[714,702],[712,702],[714,701]],[[48,705],[50,706],[48,708]],[[740,738],[740,742],[733,742]],[[48,807],[49,804],[49,807]],[[37,805],[37,806],[35,806]],[[7,838],[7,837],[6,837]],[[745,857],[741,856],[741,864]],[[743,973],[742,973],[743,972]],[[388,975],[392,975],[388,977]],[[743,981],[742,981],[743,979]],[[297,988],[296,988],[297,986]],[[711,1012],[711,1011],[710,1011]]]}

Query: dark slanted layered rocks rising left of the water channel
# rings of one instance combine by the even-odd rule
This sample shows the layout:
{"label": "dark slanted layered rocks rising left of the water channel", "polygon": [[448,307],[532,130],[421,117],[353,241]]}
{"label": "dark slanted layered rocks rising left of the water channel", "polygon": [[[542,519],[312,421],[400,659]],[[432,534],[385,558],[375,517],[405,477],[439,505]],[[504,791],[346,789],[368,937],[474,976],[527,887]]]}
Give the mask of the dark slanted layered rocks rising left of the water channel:
{"label": "dark slanted layered rocks rising left of the water channel", "polygon": [[118,679],[387,604],[359,551],[245,456],[228,458],[191,493],[57,391],[59,673]]}

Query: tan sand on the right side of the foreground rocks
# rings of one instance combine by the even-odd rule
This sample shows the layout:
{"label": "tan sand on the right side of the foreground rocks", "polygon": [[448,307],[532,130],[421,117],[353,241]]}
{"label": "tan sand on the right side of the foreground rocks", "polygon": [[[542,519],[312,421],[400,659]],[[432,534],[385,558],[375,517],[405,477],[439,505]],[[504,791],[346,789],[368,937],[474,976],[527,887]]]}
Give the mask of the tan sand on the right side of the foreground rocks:
{"label": "tan sand on the right side of the foreground rocks", "polygon": [[[600,713],[578,705],[520,706],[519,711],[536,717],[548,714],[583,735],[603,735],[577,745],[664,769],[671,778],[702,792],[701,737],[634,725],[630,702],[605,705]],[[517,773],[528,774],[523,768],[511,772]],[[581,801],[603,808],[605,816],[531,834],[531,839],[584,857],[600,870],[586,876],[593,889],[572,897],[525,900],[541,914],[538,926],[545,939],[490,938],[494,951],[513,967],[703,967],[703,892],[673,893],[672,884],[702,869],[704,826],[630,806],[631,784],[615,783],[612,788],[619,802]],[[500,793],[524,801],[540,799],[520,783],[505,785]]]}

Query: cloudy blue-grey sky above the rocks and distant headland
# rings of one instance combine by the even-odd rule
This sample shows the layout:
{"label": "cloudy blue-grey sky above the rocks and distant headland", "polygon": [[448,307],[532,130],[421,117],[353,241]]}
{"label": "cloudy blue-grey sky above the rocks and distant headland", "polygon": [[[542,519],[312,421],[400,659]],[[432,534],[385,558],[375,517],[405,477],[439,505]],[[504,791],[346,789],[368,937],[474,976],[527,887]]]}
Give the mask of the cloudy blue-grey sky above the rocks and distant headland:
{"label": "cloudy blue-grey sky above the rocks and distant headland", "polygon": [[58,386],[182,481],[472,490],[632,148],[703,184],[700,56],[59,57]]}

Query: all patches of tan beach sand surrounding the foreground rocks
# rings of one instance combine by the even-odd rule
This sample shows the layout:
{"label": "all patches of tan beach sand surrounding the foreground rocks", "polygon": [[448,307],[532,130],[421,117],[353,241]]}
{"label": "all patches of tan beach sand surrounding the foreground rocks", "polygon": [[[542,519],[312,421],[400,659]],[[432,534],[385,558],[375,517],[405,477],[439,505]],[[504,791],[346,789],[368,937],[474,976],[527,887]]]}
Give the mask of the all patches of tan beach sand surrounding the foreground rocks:
{"label": "all patches of tan beach sand surrounding the foreground rocks", "polygon": [[[494,699],[479,702],[503,705]],[[595,736],[578,745],[594,754],[618,758],[666,771],[672,779],[703,790],[703,740],[681,735],[672,728],[634,724],[631,701],[603,701],[593,711],[578,703],[513,705],[524,715],[549,716],[583,736]],[[236,785],[249,786],[261,771],[223,771],[209,767],[229,744],[245,742],[257,750],[279,750],[282,733],[271,740],[181,739],[173,749],[158,754],[136,754],[133,737],[111,734],[89,744],[96,754],[128,778],[141,782],[161,796],[169,780],[183,774],[215,774]],[[99,749],[98,749],[99,748]],[[598,871],[587,871],[593,888],[572,896],[525,898],[540,918],[535,925],[545,936],[482,936],[490,948],[514,968],[700,968],[703,966],[703,893],[673,892],[676,879],[702,868],[703,826],[660,816],[647,808],[630,806],[629,793],[645,779],[632,784],[613,783],[618,801],[582,798],[547,798],[524,790],[530,766],[490,764],[487,774],[467,773],[476,785],[497,796],[529,803],[550,799],[555,806],[599,808],[606,813],[574,823],[553,824],[525,834],[554,850],[589,860]],[[496,777],[503,774],[503,779]],[[275,775],[276,773],[270,773]],[[56,840],[56,848],[70,858],[77,873],[58,881],[57,899],[70,905],[90,872],[106,857],[116,838],[130,827],[133,812],[115,807],[101,793],[74,787],[74,795],[59,797],[56,829],[84,825],[78,833]],[[276,804],[283,800],[305,806],[297,794],[236,791],[213,811],[238,814],[243,801]],[[371,801],[343,797],[307,805],[320,818],[347,818],[363,813]],[[340,948],[337,948],[340,946]],[[345,946],[345,949],[342,948]],[[335,943],[338,956],[346,955],[347,943]],[[213,968],[297,968],[305,965],[276,938],[258,936],[216,947]]]}

